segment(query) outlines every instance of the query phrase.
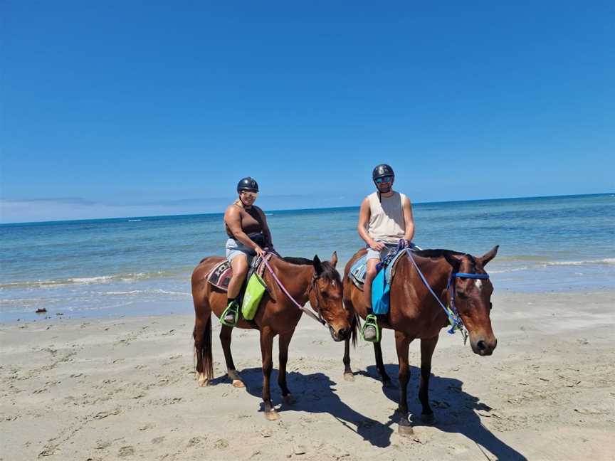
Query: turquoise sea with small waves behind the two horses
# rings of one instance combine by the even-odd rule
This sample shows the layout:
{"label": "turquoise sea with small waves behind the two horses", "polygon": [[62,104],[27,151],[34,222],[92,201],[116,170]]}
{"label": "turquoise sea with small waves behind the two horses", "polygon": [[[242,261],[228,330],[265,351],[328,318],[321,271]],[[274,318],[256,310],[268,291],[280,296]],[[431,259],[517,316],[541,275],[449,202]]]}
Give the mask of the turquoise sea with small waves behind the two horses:
{"label": "turquoise sea with small waves behind the two horses", "polygon": [[[283,255],[340,266],[362,247],[357,208],[266,211]],[[495,290],[615,288],[615,194],[417,203],[422,248],[482,255]],[[0,226],[0,320],[191,313],[191,270],[223,255],[222,215],[134,217]]]}

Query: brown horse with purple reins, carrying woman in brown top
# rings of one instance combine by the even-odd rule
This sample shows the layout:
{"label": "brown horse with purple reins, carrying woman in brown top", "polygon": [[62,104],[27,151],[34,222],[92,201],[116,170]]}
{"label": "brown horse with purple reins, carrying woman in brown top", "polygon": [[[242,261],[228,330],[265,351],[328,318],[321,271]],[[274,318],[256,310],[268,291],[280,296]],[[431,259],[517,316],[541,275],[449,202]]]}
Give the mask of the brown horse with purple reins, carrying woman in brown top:
{"label": "brown horse with purple reins, carrying woman in brown top", "polygon": [[[199,376],[199,386],[207,386],[214,378],[214,366],[211,356],[211,312],[220,317],[226,308],[226,292],[207,282],[206,277],[214,265],[224,258],[211,256],[199,263],[192,272],[192,299],[194,301],[194,349],[196,352],[196,373]],[[272,258],[270,267],[277,275],[282,285],[301,306],[308,300],[312,309],[329,326],[331,336],[335,341],[356,337],[356,327],[351,321],[353,313],[345,309],[342,302],[342,280],[335,269],[337,254],[334,252],[330,262],[322,262],[317,256],[314,260],[305,258]],[[273,369],[273,337],[280,335],[280,371],[278,384],[282,390],[285,403],[293,403],[295,399],[286,386],[286,361],[288,360],[288,344],[293,337],[295,327],[303,313],[288,296],[280,290],[279,285],[266,270],[263,278],[268,292],[263,296],[260,307],[253,319],[253,324],[241,318],[237,328],[255,328],[261,332],[261,355],[263,359],[263,403],[265,416],[269,420],[278,418],[269,390],[269,378]],[[354,323],[353,323],[354,324]],[[255,326],[256,325],[256,326]],[[226,373],[233,381],[233,386],[243,387],[243,381],[233,364],[231,355],[231,334],[233,329],[222,325],[220,340],[226,359]]]}

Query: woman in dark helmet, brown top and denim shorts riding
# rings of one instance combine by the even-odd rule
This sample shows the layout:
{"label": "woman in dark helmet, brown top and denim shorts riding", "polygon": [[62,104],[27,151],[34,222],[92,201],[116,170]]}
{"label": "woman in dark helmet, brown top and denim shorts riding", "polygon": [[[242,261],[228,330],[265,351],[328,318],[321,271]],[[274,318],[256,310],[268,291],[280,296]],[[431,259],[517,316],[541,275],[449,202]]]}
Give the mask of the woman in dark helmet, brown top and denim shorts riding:
{"label": "woman in dark helmet, brown top and denim shorts riding", "polygon": [[258,184],[251,177],[243,178],[237,184],[239,198],[224,212],[224,226],[228,234],[226,258],[233,267],[233,276],[228,282],[226,309],[220,322],[234,327],[238,320],[239,302],[237,297],[246,278],[254,255],[263,256],[263,248],[273,248],[271,233],[265,213],[254,206]]}

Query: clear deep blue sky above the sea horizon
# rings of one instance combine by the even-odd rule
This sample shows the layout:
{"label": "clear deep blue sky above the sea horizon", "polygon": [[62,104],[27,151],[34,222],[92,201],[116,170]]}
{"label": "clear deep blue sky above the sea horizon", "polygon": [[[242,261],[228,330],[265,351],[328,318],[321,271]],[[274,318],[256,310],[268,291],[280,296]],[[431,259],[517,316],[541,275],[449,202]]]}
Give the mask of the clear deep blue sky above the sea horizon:
{"label": "clear deep blue sky above the sea horizon", "polygon": [[612,1],[0,2],[0,221],[615,191]]}

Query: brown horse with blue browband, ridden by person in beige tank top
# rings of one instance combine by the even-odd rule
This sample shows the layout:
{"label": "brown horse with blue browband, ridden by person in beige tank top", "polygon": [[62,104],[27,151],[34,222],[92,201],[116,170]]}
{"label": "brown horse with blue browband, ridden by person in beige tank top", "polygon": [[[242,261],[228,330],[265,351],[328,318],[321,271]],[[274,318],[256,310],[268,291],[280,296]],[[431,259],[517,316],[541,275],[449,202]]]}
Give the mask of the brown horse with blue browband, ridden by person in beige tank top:
{"label": "brown horse with blue browband, ridden by person in beige tank top", "polygon": [[[350,267],[357,258],[364,255],[365,250],[356,253],[348,262],[344,277],[344,302],[350,310],[356,311],[365,318],[367,309],[363,293],[348,278]],[[480,258],[450,250],[421,250],[413,253],[414,260],[426,281],[439,299],[447,304],[451,301],[452,285],[453,302],[470,337],[470,344],[475,354],[488,356],[498,344],[491,329],[489,318],[491,310],[491,293],[493,285],[486,276],[485,265],[495,258],[498,246]],[[461,274],[457,275],[459,272]],[[482,280],[463,275],[483,275]],[[438,334],[448,325],[448,317],[443,307],[426,287],[416,267],[409,257],[399,259],[396,274],[391,283],[390,310],[386,321],[378,324],[380,327],[395,330],[395,346],[399,361],[399,433],[412,433],[409,422],[406,387],[409,381],[408,349],[411,341],[421,339],[421,384],[419,401],[423,407],[422,418],[426,422],[433,421],[433,410],[429,406],[429,376],[431,374],[431,356],[438,344]],[[385,385],[390,385],[390,378],[384,370],[382,349],[379,343],[374,343],[376,368]],[[352,381],[350,369],[349,341],[345,344],[344,376]]]}

